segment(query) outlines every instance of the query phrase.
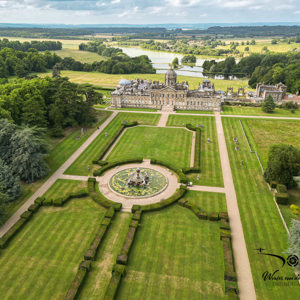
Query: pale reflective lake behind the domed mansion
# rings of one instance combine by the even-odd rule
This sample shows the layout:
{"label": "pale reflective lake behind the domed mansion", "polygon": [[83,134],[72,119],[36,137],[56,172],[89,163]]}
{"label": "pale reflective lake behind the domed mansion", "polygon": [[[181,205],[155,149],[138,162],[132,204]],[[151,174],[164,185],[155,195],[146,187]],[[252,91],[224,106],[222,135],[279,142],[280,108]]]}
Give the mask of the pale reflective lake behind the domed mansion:
{"label": "pale reflective lake behind the domed mansion", "polygon": [[[126,47],[120,47],[120,48],[123,50],[125,54],[127,54],[130,57],[147,55],[151,59],[152,65],[156,69],[156,73],[158,74],[166,73],[166,71],[169,70],[170,68],[169,64],[172,63],[175,57],[177,57],[180,62],[182,57],[184,56],[182,54],[175,54],[171,52],[150,51],[141,48],[126,48]],[[203,72],[202,65],[205,60],[206,59],[204,58],[198,57],[194,67],[181,65],[180,68],[176,70],[176,73],[178,75],[183,75],[183,76],[204,78],[205,76],[202,73]],[[223,59],[216,59],[216,61],[221,61],[221,60]]]}

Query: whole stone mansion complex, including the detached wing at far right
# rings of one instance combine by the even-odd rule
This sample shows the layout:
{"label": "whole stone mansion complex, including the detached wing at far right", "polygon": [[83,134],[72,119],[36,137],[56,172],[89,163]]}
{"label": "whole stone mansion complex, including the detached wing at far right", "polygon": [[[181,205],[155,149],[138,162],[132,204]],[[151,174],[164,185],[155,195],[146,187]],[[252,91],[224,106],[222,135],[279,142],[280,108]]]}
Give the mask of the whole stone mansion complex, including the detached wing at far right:
{"label": "whole stone mansion complex, including the detached wing at far right", "polygon": [[215,90],[214,84],[204,79],[198,89],[190,90],[188,82],[177,82],[177,74],[170,69],[165,74],[165,82],[150,80],[122,79],[116,90],[111,93],[113,108],[152,108],[162,110],[210,110],[221,111],[225,101],[260,103],[268,95],[280,102],[286,93],[286,86],[259,83],[256,93],[245,95],[244,89],[237,92],[228,87],[227,91]]}

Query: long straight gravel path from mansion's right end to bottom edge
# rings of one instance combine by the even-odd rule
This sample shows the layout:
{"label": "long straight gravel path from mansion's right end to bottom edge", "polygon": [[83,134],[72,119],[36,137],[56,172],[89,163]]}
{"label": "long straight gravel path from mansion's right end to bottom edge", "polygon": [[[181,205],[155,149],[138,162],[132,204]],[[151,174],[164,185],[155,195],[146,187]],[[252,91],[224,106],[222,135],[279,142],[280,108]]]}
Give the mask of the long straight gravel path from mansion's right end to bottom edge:
{"label": "long straight gravel path from mansion's right end to bottom edge", "polygon": [[227,210],[232,235],[232,249],[234,253],[234,261],[240,291],[239,297],[241,300],[252,300],[256,299],[256,294],[233,183],[233,177],[230,168],[222,119],[220,113],[218,112],[215,113],[215,117],[226,194]]}

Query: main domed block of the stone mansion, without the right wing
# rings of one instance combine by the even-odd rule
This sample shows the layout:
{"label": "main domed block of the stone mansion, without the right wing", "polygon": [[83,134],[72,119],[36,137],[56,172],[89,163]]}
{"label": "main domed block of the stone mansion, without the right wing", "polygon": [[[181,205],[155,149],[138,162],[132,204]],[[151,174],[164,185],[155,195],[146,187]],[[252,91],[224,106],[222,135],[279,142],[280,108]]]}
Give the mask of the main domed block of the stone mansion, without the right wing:
{"label": "main domed block of the stone mansion, without the right wing", "polygon": [[122,79],[111,93],[111,106],[220,111],[222,97],[208,79],[197,90],[190,90],[188,82],[178,83],[176,72],[170,69],[165,74],[165,83]]}

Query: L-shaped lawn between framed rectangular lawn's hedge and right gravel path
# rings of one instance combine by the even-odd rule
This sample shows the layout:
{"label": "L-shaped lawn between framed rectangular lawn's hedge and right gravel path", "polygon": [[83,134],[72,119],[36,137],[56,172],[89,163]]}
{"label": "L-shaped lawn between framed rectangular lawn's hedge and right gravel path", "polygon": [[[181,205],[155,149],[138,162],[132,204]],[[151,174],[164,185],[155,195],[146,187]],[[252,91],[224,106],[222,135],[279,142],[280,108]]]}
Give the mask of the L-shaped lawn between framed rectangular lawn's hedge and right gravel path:
{"label": "L-shaped lawn between framed rectangular lawn's hedge and right gravel path", "polygon": [[[219,146],[214,117],[170,115],[167,126],[186,126],[186,124],[203,125],[201,129],[200,175],[191,174],[188,177],[194,184],[223,186],[223,176],[220,162]],[[207,139],[210,138],[210,143]]]}

